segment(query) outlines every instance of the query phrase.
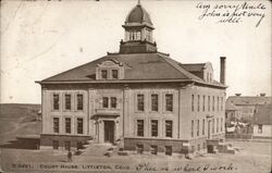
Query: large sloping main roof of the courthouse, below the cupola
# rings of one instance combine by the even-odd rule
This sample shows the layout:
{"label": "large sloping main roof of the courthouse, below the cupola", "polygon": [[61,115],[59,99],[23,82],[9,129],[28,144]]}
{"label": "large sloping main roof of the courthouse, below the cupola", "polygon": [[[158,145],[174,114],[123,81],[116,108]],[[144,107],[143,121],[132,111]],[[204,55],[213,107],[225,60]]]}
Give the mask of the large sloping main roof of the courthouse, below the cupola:
{"label": "large sloping main roof of the courthouse, below the cupola", "polygon": [[[202,78],[186,71],[180,65],[180,62],[160,52],[108,54],[92,62],[46,78],[42,82],[97,82],[96,67],[106,60],[114,60],[124,64],[124,78],[114,82],[184,79],[208,84]],[[225,87],[225,85],[215,81],[209,85]]]}

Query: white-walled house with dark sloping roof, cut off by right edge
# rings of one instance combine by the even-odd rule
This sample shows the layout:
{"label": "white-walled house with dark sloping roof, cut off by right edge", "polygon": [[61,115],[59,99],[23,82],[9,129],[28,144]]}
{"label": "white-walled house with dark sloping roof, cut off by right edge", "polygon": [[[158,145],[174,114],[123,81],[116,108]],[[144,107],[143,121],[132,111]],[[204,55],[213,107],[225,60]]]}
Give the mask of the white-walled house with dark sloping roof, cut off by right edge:
{"label": "white-walled house with dark sloping roof, cut off by right edge", "polygon": [[254,114],[254,138],[272,138],[272,104],[256,107]]}

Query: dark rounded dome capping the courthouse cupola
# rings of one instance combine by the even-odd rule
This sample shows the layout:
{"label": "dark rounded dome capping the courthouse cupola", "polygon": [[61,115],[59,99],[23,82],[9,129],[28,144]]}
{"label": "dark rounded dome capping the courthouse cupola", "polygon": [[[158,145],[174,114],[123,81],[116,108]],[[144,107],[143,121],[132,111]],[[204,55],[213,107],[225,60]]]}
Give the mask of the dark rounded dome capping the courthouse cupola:
{"label": "dark rounded dome capping the courthouse cupola", "polygon": [[133,10],[128,13],[125,23],[147,23],[152,25],[148,12],[141,7],[141,4],[137,4],[133,8]]}

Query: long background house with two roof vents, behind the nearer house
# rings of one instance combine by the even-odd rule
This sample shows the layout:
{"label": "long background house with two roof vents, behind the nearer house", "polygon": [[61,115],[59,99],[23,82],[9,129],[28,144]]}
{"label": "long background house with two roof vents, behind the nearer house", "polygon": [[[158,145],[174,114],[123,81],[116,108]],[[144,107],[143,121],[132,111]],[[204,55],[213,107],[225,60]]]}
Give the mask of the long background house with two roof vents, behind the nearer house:
{"label": "long background house with two roof vents, behind the nearer house", "polygon": [[226,99],[226,119],[251,123],[258,106],[270,104],[271,97],[265,94],[260,96],[242,96],[236,94]]}

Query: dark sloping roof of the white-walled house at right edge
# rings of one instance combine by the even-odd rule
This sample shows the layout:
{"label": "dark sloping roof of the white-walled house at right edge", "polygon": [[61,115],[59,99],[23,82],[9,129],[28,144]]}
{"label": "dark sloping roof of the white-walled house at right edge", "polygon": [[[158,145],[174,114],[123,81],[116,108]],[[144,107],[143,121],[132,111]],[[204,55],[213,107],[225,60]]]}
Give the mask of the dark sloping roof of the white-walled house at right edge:
{"label": "dark sloping roof of the white-walled house at right edge", "polygon": [[272,125],[272,104],[258,106],[254,114],[255,124]]}

